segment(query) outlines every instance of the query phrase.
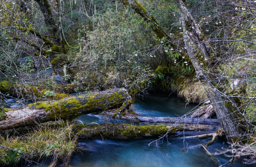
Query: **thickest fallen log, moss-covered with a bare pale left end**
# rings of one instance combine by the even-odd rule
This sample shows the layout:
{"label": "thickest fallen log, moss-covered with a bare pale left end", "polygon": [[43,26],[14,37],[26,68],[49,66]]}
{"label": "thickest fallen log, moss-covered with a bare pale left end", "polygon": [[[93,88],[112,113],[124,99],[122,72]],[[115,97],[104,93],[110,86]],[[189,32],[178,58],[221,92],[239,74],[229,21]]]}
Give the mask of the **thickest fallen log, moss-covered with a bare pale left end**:
{"label": "thickest fallen log, moss-covered with a bare pale left end", "polygon": [[32,103],[22,109],[4,111],[5,116],[1,116],[0,120],[0,130],[60,119],[72,120],[77,116],[109,109],[119,109],[121,112],[128,108],[131,102],[132,98],[127,90],[117,88],[56,101]]}

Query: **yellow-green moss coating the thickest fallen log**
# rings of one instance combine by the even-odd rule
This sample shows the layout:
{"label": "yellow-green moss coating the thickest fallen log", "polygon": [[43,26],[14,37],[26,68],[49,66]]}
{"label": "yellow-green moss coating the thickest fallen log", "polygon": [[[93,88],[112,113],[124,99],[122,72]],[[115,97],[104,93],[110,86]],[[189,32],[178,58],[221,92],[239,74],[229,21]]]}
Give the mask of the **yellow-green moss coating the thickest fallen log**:
{"label": "yellow-green moss coating the thickest fallen log", "polygon": [[89,114],[91,112],[116,109],[119,106],[121,106],[119,110],[123,111],[128,104],[131,103],[131,101],[123,103],[123,101],[126,100],[126,96],[126,90],[119,90],[110,95],[105,95],[104,92],[96,92],[84,96],[74,96],[62,100],[51,101],[51,103],[33,103],[29,104],[29,106],[51,111],[46,120],[54,120],[55,117],[64,120],[73,120],[77,116]]}

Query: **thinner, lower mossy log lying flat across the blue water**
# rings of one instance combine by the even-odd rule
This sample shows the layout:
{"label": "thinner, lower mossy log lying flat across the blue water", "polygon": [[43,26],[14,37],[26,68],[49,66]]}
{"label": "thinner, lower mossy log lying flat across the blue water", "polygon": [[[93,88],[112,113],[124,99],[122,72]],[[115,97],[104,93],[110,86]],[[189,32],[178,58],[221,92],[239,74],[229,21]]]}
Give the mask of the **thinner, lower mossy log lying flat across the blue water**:
{"label": "thinner, lower mossy log lying flat across the blue water", "polygon": [[157,137],[160,135],[177,135],[181,131],[212,131],[209,125],[195,124],[162,124],[162,125],[131,125],[131,124],[94,124],[74,126],[75,134],[80,139],[129,139]]}

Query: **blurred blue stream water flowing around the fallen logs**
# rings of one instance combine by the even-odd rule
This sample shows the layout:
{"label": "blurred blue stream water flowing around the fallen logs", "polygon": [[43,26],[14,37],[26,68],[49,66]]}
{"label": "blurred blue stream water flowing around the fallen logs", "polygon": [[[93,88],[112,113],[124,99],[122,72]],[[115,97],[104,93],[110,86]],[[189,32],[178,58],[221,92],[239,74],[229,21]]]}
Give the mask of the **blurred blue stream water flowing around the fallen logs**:
{"label": "blurred blue stream water flowing around the fallen logs", "polygon": [[[149,96],[137,99],[134,108],[142,116],[181,116],[194,108],[177,97]],[[81,116],[83,123],[106,122],[103,116],[89,114]],[[211,140],[207,139],[184,139],[180,137],[164,138],[150,146],[148,144],[155,139],[130,139],[130,140],[82,140],[75,153],[71,167],[218,167],[230,160],[230,157],[220,153],[229,145],[224,139],[216,141],[208,147],[214,156],[206,154],[200,147],[201,144]],[[190,132],[190,135],[197,135]],[[228,154],[230,155],[230,154]],[[40,165],[29,167],[48,167],[49,160]],[[236,161],[229,167],[255,167]]]}

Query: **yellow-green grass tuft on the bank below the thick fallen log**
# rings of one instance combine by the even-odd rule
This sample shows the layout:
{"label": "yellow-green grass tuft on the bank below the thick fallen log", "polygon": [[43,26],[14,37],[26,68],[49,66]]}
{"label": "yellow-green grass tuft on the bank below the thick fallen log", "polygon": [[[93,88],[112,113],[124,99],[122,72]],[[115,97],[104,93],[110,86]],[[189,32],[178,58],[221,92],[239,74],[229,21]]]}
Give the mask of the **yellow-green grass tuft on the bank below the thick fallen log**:
{"label": "yellow-green grass tuft on the bank below the thick fallen log", "polygon": [[75,149],[72,126],[34,128],[25,135],[0,137],[0,166],[39,161],[45,157],[52,157],[54,161],[70,157]]}

